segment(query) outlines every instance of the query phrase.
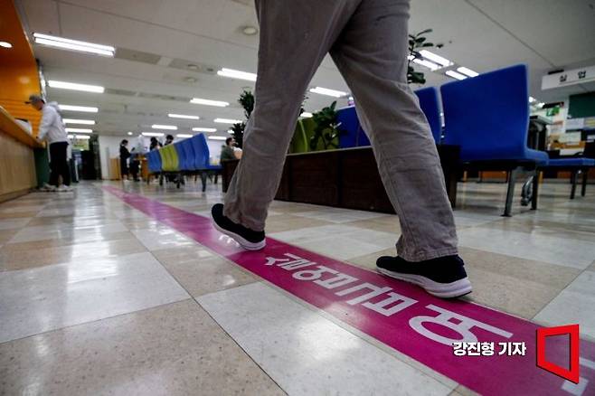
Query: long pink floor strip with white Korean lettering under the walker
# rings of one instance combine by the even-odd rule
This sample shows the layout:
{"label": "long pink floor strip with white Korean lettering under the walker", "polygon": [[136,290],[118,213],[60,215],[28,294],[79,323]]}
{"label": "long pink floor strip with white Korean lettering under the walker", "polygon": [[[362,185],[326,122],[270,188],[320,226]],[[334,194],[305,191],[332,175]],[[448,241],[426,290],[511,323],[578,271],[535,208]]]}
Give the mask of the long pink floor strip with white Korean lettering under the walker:
{"label": "long pink floor strip with white Korean lettering under the walker", "polygon": [[[234,261],[260,278],[325,310],[402,354],[482,394],[595,394],[595,344],[581,340],[578,385],[536,366],[536,329],[527,320],[486,306],[431,297],[420,288],[267,239],[260,251],[237,248],[211,220],[137,193],[104,187],[122,201]],[[322,267],[322,268],[321,268]],[[463,337],[495,343],[493,356],[456,356],[451,342]],[[498,355],[497,343],[524,342],[524,356]],[[546,358],[563,367],[568,339],[549,338]],[[399,375],[395,372],[395,375]]]}

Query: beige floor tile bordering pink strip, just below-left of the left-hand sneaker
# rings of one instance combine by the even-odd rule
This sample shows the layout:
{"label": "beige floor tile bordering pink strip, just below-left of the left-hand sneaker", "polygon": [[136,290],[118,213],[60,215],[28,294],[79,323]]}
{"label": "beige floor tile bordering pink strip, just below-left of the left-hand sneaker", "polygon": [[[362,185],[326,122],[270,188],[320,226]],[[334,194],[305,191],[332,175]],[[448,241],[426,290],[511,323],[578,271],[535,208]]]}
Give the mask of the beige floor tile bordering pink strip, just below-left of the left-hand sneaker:
{"label": "beige floor tile bordering pink strip, just below-left of the left-hand sneaker", "polygon": [[257,279],[203,247],[155,250],[153,255],[193,297],[236,288]]}

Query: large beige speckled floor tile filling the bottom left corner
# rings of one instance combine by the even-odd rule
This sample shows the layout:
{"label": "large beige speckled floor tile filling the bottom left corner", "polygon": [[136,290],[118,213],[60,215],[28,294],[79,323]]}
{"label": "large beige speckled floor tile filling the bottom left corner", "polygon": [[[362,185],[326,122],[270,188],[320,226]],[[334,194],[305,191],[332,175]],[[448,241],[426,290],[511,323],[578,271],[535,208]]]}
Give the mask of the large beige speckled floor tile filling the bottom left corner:
{"label": "large beige speckled floor tile filling the bottom left corner", "polygon": [[194,300],[0,344],[6,394],[283,394]]}

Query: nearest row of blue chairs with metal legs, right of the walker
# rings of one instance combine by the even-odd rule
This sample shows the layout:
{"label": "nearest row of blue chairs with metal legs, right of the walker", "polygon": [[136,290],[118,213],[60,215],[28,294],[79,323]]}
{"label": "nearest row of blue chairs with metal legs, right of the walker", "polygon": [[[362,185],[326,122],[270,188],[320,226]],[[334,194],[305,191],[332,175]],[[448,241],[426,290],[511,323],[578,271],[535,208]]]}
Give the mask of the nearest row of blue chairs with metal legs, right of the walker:
{"label": "nearest row of blue chairs with metal legs, right of the walker", "polygon": [[[591,158],[551,159],[547,153],[527,146],[530,111],[528,71],[524,64],[448,82],[439,91],[430,87],[416,90],[415,93],[420,99],[420,108],[428,119],[436,144],[460,146],[463,169],[507,172],[505,216],[511,215],[517,174],[532,174],[532,183],[524,184],[524,195],[531,195],[532,209],[536,209],[538,175],[541,171],[571,171],[571,198],[574,198],[576,174],[586,173],[595,166],[595,160]],[[440,97],[444,110],[444,130],[440,122]],[[354,124],[354,113],[354,108],[339,113],[339,121],[342,127],[347,127],[346,135],[349,137],[363,133],[359,121]],[[357,131],[349,132],[354,128]],[[356,140],[364,143],[357,146],[366,145],[362,137]],[[351,142],[344,143],[348,145]],[[585,180],[583,178],[583,195]],[[525,189],[533,191],[525,194]],[[523,203],[528,204],[528,199]]]}

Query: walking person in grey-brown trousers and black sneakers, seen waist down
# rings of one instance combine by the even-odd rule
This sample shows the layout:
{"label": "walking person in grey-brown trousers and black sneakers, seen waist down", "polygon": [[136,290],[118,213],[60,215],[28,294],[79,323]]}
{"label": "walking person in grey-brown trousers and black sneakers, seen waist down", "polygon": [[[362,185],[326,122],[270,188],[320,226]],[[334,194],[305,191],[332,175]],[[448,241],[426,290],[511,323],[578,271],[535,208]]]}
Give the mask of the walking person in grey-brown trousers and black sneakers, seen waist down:
{"label": "walking person in grey-brown trousers and black sneakers, seen waist down", "polygon": [[438,152],[407,83],[409,0],[256,0],[256,8],[256,102],[224,204],[212,209],[215,227],[247,250],[264,248],[304,92],[330,52],[401,222],[398,256],[379,258],[378,271],[438,297],[469,293]]}

